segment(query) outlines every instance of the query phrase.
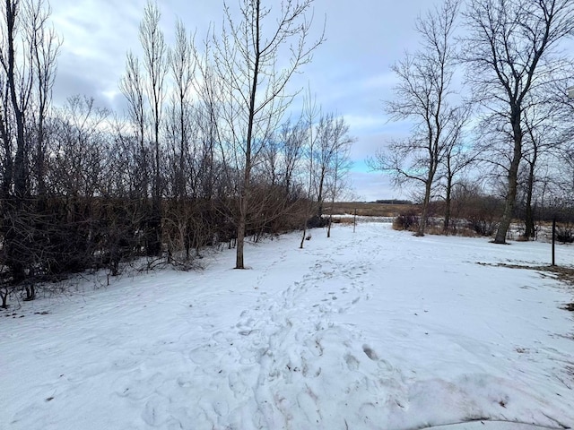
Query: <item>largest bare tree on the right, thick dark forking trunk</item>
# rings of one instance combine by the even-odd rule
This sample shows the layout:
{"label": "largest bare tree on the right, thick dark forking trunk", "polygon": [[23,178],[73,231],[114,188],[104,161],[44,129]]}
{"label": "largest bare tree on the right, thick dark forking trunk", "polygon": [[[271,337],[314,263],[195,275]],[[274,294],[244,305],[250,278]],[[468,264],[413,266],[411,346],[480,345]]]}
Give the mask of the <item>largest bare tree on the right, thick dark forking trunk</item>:
{"label": "largest bare tree on the right, thick dark forking trunk", "polygon": [[468,81],[474,97],[506,124],[510,146],[505,209],[494,242],[506,243],[523,159],[523,116],[528,95],[548,82],[552,55],[574,30],[571,0],[471,0],[465,11]]}

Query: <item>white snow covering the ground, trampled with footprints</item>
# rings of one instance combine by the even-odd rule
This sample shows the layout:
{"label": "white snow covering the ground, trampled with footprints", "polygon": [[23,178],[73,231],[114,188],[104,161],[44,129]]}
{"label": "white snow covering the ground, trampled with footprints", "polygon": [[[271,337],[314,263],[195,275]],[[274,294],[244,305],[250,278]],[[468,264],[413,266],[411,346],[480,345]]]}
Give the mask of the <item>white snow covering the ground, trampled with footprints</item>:
{"label": "white snow covering the ground, trampled with footprints", "polygon": [[226,250],[0,314],[0,428],[574,426],[572,289],[497,266],[550,245],[312,236],[248,245],[246,271]]}

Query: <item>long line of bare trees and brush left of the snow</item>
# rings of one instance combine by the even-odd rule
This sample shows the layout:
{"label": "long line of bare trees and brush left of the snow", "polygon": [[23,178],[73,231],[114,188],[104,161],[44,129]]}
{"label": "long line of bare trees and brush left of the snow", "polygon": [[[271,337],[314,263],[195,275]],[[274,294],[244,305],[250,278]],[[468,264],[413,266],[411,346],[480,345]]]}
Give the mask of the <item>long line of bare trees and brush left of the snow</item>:
{"label": "long line of bare trees and brush left of the snow", "polygon": [[301,97],[292,76],[324,41],[310,36],[312,3],[224,4],[221,32],[197,43],[178,22],[169,45],[149,1],[142,54],[126,54],[119,83],[124,114],[83,95],[53,106],[61,39],[49,4],[3,2],[2,306],[14,291],[33,299],[39,282],[116,275],[139,257],[187,269],[223,243],[243,269],[246,236],[321,219],[344,187],[353,139],[342,116],[289,111]]}

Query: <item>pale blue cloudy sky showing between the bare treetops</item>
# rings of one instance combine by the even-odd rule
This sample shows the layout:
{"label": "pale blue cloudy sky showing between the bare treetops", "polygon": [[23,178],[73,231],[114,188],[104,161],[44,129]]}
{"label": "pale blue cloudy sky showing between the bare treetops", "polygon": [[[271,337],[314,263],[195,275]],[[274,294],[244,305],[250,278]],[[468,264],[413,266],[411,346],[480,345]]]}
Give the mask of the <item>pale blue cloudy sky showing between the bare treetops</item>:
{"label": "pale blue cloudy sky showing between the bare treetops", "polygon": [[[235,4],[237,0],[229,0]],[[279,4],[279,0],[274,0]],[[268,1],[273,4],[273,1]],[[404,197],[364,160],[404,124],[387,123],[382,100],[392,97],[390,65],[414,50],[415,18],[436,0],[315,0],[315,24],[326,17],[326,42],[298,77],[309,82],[324,112],[344,116],[357,138],[352,148],[352,185],[361,200]],[[162,30],[171,42],[176,18],[203,39],[210,22],[221,25],[222,0],[158,0]],[[121,111],[117,89],[126,52],[139,49],[138,25],[145,0],[52,0],[52,19],[64,39],[58,58],[55,102],[74,94]]]}

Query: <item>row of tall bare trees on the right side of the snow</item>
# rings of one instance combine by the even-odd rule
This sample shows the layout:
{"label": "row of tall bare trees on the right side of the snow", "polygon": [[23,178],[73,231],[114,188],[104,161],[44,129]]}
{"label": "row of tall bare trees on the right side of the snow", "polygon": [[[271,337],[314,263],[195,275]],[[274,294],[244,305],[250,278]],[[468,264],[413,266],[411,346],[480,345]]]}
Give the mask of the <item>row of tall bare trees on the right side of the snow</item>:
{"label": "row of tall bare trees on the right side of the snow", "polygon": [[573,14],[570,0],[445,0],[416,20],[420,47],[393,65],[395,97],[385,104],[413,128],[369,162],[414,186],[418,236],[432,201],[444,203],[450,231],[455,195],[500,197],[497,244],[517,216],[531,239],[535,211],[572,212],[574,64],[563,48]]}

